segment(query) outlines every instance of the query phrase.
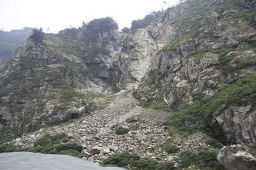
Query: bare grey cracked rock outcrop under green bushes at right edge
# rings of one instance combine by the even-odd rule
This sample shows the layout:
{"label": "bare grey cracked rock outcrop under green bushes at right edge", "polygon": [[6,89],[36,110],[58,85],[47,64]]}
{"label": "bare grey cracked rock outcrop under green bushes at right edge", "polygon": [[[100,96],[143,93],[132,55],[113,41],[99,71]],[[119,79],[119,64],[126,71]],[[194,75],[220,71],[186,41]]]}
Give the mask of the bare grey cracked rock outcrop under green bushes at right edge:
{"label": "bare grey cracked rock outcrop under green bushes at right edge", "polygon": [[256,111],[252,106],[230,106],[217,118],[229,141],[256,143]]}

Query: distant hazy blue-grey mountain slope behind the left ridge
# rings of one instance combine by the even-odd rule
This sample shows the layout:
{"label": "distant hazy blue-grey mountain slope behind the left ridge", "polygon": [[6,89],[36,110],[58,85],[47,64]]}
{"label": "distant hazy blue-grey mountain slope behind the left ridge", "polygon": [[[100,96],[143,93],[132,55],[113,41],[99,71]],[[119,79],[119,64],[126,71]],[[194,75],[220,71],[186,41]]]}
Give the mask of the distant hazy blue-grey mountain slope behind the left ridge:
{"label": "distant hazy blue-grey mountain slope behind the left ridge", "polygon": [[0,31],[0,67],[3,67],[8,60],[12,59],[15,48],[22,45],[31,36],[32,30],[32,28],[24,27],[9,32]]}

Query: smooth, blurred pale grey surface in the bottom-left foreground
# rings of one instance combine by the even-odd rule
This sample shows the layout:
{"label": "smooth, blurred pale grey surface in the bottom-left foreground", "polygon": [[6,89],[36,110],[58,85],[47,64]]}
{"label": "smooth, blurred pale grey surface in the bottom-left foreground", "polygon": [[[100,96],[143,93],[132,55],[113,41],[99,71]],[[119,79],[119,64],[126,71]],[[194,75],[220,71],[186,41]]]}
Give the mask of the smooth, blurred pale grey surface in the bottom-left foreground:
{"label": "smooth, blurred pale grey surface in the bottom-left foreground", "polygon": [[51,155],[31,152],[0,153],[0,169],[113,169],[120,167],[100,167],[92,162],[68,155]]}

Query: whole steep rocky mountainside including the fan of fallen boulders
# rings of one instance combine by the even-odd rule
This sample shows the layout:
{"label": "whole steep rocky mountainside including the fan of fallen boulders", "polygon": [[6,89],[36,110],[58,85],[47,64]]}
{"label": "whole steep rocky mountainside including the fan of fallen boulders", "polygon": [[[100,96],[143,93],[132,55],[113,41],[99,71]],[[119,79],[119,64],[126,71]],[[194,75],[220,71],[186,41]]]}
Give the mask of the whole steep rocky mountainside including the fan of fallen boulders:
{"label": "whole steep rocky mountainside including the fan of fallen boulders", "polygon": [[[132,23],[118,31],[107,17],[58,34],[34,31],[0,71],[1,136],[87,115],[45,133],[87,143],[84,153],[96,162],[122,150],[161,161],[184,156],[159,155],[164,143],[185,151],[212,138],[256,143],[255,1],[190,0]],[[138,127],[126,122],[132,116]],[[109,138],[116,124],[131,132]],[[12,143],[33,146],[42,131]],[[102,151],[107,141],[113,152]]]}

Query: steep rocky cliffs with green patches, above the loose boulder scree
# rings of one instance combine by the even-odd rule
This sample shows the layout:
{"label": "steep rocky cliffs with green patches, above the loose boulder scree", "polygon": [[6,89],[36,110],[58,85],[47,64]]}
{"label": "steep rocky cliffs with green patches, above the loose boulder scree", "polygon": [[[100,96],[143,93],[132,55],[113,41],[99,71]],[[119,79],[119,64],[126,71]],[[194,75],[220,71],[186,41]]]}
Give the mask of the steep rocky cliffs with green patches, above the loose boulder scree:
{"label": "steep rocky cliffs with green patches, above the loose boulder scree", "polygon": [[140,29],[118,31],[100,18],[59,34],[34,32],[1,69],[1,130],[58,124],[106,106],[103,94],[133,89],[147,107],[191,104],[178,111],[189,117],[180,116],[186,128],[255,143],[255,6],[191,0]]}

